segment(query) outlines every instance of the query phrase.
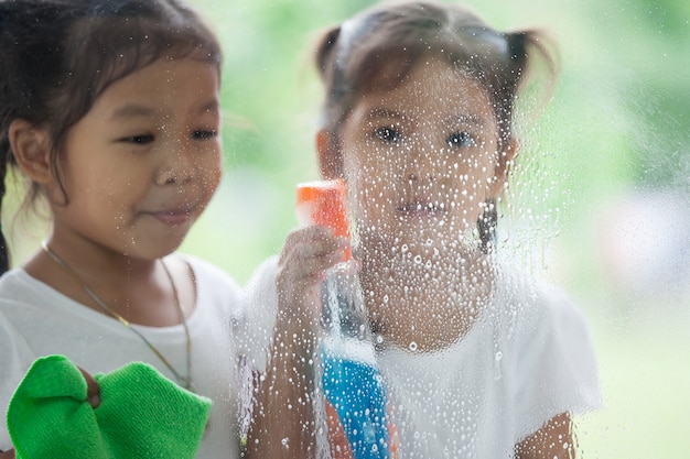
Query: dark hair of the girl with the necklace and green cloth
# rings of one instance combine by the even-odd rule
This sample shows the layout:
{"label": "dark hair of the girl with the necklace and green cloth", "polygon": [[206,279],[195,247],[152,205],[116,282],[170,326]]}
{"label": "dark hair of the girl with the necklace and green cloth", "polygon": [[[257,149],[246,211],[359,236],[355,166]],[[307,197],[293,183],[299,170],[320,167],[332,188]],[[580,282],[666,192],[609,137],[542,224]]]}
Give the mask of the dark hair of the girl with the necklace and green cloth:
{"label": "dark hair of the girl with the necklace and green cloth", "polygon": [[[220,72],[220,47],[198,15],[179,0],[0,0],[0,203],[8,130],[15,119],[45,128],[51,167],[60,177],[61,144],[109,85],[161,57],[194,56]],[[40,194],[29,186],[24,205]],[[0,273],[8,270],[0,231]]]}

